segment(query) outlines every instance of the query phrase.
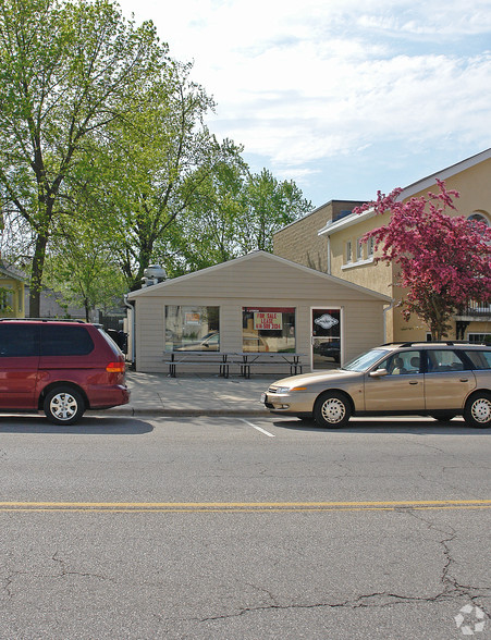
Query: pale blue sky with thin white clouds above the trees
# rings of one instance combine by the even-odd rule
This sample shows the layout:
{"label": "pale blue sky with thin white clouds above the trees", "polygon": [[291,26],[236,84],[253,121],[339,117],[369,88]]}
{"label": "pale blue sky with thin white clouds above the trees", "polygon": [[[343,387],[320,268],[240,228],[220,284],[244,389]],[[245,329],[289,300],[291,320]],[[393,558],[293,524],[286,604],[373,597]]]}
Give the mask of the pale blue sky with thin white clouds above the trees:
{"label": "pale blue sky with thin white clouds above the trees", "polygon": [[491,0],[120,0],[217,102],[209,126],[318,207],[491,147]]}

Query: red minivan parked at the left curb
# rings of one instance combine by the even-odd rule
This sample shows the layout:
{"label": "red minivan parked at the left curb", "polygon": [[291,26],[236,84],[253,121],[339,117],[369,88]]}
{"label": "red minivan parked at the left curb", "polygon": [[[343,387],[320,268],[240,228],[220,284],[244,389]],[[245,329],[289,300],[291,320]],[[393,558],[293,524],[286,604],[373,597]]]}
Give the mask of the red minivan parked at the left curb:
{"label": "red minivan parked at the left curb", "polygon": [[86,409],[128,401],[124,356],[101,327],[0,319],[0,411],[44,410],[73,424]]}

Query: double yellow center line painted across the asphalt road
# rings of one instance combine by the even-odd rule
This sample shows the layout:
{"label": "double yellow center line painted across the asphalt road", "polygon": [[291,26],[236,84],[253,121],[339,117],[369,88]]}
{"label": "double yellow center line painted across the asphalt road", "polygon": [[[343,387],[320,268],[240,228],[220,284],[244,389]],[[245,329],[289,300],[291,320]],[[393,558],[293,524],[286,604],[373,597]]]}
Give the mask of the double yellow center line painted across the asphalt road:
{"label": "double yellow center line painted across the asphalt road", "polygon": [[225,513],[482,509],[491,500],[390,502],[0,502],[0,512]]}

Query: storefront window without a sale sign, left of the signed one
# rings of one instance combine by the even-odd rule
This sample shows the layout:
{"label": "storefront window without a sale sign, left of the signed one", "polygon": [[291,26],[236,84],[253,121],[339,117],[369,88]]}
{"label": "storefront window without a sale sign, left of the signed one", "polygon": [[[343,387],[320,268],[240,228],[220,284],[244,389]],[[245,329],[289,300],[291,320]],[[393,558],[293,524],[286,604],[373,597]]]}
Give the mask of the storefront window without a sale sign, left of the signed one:
{"label": "storefront window without a sale sign, left of the signed one", "polygon": [[165,306],[167,352],[219,352],[220,307]]}

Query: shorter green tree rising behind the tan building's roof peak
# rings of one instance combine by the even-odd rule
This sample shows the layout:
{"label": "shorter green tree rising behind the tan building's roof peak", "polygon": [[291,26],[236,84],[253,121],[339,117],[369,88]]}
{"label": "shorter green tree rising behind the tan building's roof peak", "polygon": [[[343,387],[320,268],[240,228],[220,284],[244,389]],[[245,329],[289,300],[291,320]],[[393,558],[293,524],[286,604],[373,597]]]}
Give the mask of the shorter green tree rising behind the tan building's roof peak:
{"label": "shorter green tree rising behind the tan building's roof peak", "polygon": [[175,229],[174,272],[210,267],[253,250],[272,250],[275,231],[311,210],[293,182],[251,174],[241,149],[219,163]]}

